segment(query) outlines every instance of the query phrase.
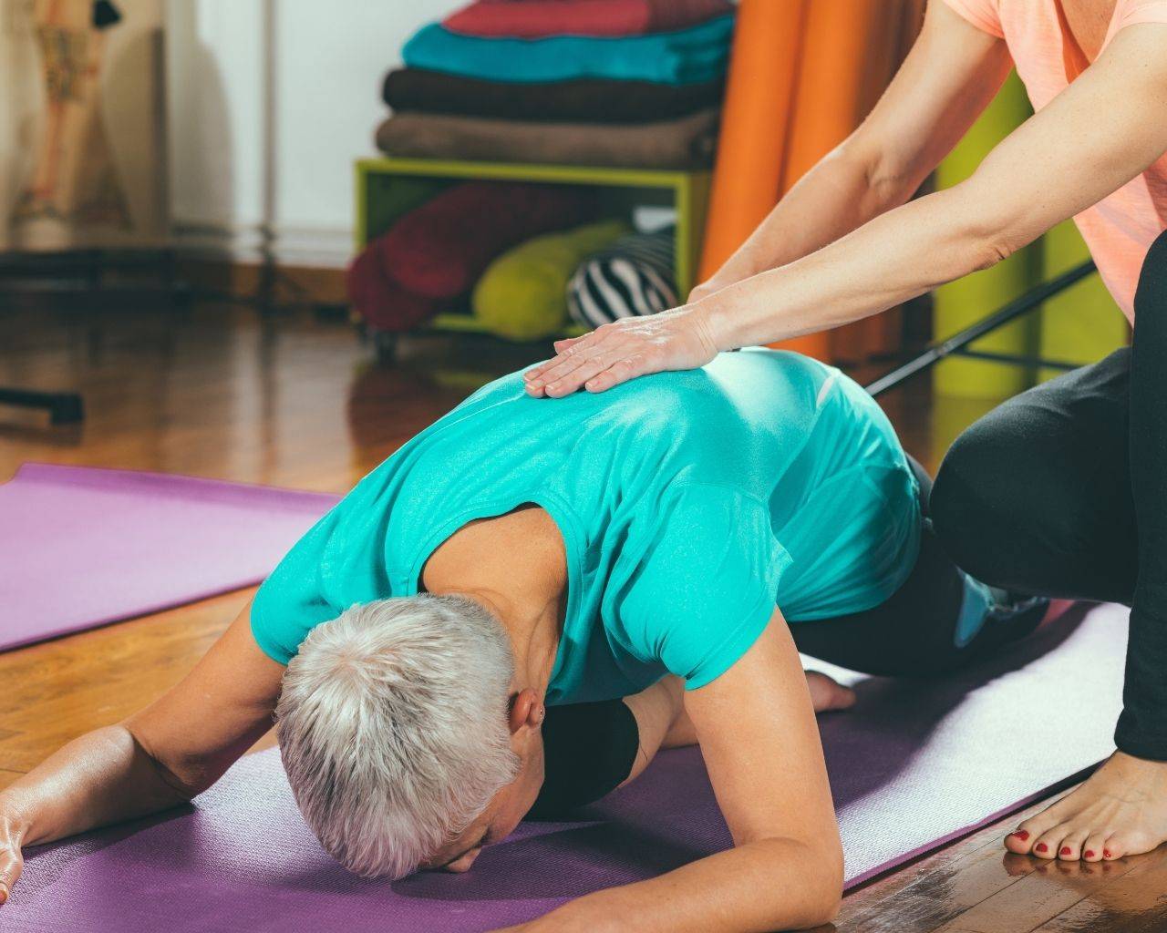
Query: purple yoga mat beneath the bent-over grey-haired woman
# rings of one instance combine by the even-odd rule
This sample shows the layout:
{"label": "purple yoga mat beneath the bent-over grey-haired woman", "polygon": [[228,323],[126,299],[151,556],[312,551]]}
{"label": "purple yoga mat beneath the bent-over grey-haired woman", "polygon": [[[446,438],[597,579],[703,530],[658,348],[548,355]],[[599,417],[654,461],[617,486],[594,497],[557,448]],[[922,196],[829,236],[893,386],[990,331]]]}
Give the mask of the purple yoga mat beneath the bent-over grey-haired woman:
{"label": "purple yoga mat beneath the bent-over grey-haired woman", "polygon": [[[1104,758],[1113,749],[1126,618],[1117,606],[1074,610],[959,676],[858,682],[859,704],[820,720],[848,885]],[[1075,701],[1065,685],[1082,682],[1090,697]],[[30,850],[0,907],[0,930],[485,931],[728,844],[700,755],[685,749],[662,755],[572,822],[524,823],[467,875],[363,881],[316,844],[272,750],[242,760],[194,808]]]}

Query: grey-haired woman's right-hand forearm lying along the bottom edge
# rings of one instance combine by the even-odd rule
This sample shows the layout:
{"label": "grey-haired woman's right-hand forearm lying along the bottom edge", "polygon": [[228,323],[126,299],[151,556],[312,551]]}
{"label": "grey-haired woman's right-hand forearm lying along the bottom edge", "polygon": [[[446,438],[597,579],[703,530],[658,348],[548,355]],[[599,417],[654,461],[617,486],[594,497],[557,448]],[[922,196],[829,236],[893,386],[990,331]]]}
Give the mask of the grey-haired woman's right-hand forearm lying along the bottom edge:
{"label": "grey-haired woman's right-hand forearm lying along the bottom edge", "polygon": [[692,862],[650,881],[579,898],[519,927],[605,933],[746,933],[829,923],[843,892],[833,850],[769,839]]}

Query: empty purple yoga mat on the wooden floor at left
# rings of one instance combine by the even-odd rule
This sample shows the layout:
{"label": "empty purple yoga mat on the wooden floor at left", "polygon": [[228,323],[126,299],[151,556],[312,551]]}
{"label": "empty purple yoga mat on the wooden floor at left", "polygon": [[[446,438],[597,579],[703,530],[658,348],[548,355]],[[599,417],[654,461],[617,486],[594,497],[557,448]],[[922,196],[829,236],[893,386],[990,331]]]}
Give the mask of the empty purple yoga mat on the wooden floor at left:
{"label": "empty purple yoga mat on the wooden floor at left", "polygon": [[258,583],[336,501],[27,463],[0,485],[0,651]]}

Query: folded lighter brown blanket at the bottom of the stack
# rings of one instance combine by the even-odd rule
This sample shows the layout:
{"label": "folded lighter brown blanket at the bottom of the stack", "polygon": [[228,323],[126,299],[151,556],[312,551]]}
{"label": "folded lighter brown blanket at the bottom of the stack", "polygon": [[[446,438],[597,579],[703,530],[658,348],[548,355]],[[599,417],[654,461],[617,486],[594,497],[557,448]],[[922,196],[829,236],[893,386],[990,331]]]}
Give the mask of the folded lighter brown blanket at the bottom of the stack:
{"label": "folded lighter brown blanket at the bottom of the stack", "polygon": [[398,113],[377,127],[377,147],[420,159],[696,169],[713,163],[719,117],[710,108],[676,120],[612,126]]}

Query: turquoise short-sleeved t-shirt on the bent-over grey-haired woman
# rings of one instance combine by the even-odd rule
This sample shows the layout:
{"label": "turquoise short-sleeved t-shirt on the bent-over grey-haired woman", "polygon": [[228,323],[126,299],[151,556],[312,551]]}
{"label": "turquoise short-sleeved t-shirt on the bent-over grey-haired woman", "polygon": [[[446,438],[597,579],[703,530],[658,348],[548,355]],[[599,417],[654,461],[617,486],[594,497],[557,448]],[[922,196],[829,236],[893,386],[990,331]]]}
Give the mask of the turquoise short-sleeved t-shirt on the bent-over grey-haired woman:
{"label": "turquoise short-sleeved t-shirt on the bent-over grey-haired woman", "polygon": [[286,664],[355,603],[418,592],[438,546],[525,503],[564,536],[567,608],[548,703],[665,673],[708,683],[780,606],[791,622],[878,605],[920,547],[916,479],[879,406],[838,370],[774,350],[602,394],[484,386],[369,473],[252,606]]}

